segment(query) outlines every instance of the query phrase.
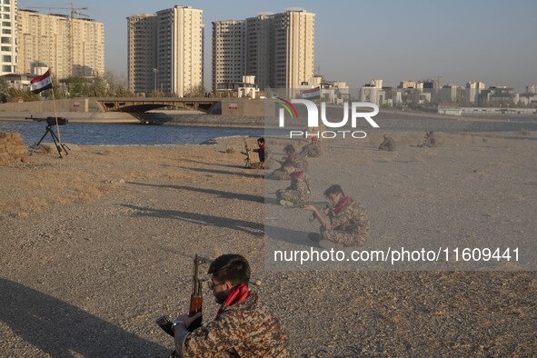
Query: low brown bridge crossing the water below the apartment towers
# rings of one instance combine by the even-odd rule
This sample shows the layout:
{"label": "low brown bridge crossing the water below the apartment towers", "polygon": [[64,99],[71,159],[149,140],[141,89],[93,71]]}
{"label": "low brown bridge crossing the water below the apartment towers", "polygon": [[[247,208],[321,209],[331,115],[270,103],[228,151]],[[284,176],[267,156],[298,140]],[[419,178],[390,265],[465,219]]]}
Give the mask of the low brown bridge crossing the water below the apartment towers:
{"label": "low brown bridge crossing the water below the apartment towers", "polygon": [[103,112],[144,113],[162,107],[179,107],[201,111],[206,114],[214,112],[221,100],[216,98],[177,98],[177,97],[129,97],[129,98],[95,98]]}

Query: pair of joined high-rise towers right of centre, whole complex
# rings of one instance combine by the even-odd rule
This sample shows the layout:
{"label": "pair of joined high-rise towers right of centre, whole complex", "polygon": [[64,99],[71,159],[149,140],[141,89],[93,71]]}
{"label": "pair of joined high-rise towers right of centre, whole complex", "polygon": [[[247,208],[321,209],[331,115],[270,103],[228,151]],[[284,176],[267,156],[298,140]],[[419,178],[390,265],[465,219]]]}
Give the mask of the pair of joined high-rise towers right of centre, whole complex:
{"label": "pair of joined high-rise towers right of centre, whole complex", "polygon": [[[241,32],[245,34],[245,46]],[[243,75],[254,75],[259,88],[311,85],[314,33],[315,14],[302,9],[213,23],[213,90],[229,82],[227,78],[240,81]]]}

